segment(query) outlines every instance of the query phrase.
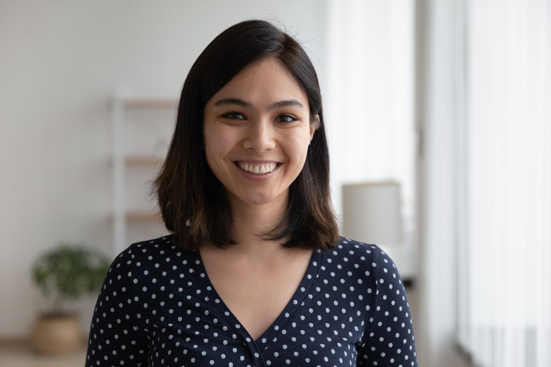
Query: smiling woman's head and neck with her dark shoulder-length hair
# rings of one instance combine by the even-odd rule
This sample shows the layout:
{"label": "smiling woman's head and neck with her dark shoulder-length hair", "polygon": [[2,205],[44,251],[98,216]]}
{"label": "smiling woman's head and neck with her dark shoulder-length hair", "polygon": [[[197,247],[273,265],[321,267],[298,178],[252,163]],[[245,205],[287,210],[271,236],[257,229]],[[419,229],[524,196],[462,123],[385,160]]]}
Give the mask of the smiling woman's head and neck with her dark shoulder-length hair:
{"label": "smiling woman's head and neck with her dark shoulder-length hair", "polygon": [[[304,48],[272,23],[242,21],[215,37],[183,84],[152,185],[174,242],[256,255],[334,248],[321,101]],[[278,164],[267,173],[269,162]]]}

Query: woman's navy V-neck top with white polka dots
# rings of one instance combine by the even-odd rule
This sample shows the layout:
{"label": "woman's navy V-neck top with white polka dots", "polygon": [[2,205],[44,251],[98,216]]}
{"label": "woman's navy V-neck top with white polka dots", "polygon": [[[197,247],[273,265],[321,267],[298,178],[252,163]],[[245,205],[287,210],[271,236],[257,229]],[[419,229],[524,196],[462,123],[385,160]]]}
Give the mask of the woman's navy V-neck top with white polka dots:
{"label": "woman's navy V-neck top with white polka dots", "polygon": [[417,366],[406,292],[377,245],[340,237],[315,250],[276,321],[253,340],[172,235],[112,261],[91,320],[86,366]]}

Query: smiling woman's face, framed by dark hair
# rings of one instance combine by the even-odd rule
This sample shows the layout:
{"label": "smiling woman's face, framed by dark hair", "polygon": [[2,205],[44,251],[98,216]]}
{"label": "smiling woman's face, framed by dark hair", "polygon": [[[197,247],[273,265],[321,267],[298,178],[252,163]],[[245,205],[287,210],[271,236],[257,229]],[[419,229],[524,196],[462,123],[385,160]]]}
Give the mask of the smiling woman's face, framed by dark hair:
{"label": "smiling woman's face, framed by dark hair", "polygon": [[[314,135],[309,117],[299,84],[271,58],[241,70],[210,98],[204,109],[204,150],[230,201],[265,204],[287,193]],[[258,166],[261,173],[264,166],[268,172],[275,162],[275,170],[262,176],[242,169],[255,172]]]}

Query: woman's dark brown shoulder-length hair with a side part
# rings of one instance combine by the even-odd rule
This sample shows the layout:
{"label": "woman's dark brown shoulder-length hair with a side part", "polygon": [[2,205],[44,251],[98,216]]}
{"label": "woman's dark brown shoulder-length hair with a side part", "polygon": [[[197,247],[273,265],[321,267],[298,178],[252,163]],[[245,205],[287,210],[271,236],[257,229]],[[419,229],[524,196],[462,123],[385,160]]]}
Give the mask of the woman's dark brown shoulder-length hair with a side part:
{"label": "woman's dark brown shoulder-length hair with a side part", "polygon": [[[174,134],[150,194],[159,203],[172,243],[196,250],[204,243],[219,248],[235,245],[232,218],[222,183],[208,166],[204,150],[203,111],[207,101],[241,69],[274,58],[305,92],[310,123],[316,128],[306,162],[289,187],[289,205],[282,222],[256,234],[261,240],[287,237],[285,248],[333,249],[339,229],[329,193],[329,152],[322,98],[316,71],[305,50],[266,20],[249,19],[219,34],[193,63],[182,87]],[[316,118],[317,115],[317,118]]]}

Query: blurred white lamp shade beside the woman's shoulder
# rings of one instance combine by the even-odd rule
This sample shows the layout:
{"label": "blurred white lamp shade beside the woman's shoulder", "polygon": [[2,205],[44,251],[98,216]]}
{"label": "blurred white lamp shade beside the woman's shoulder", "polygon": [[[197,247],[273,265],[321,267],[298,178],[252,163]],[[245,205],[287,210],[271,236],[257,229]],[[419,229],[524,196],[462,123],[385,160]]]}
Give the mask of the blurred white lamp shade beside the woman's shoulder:
{"label": "blurred white lamp shade beside the woman's shoulder", "polygon": [[343,184],[343,235],[369,244],[402,241],[400,185],[395,181]]}

